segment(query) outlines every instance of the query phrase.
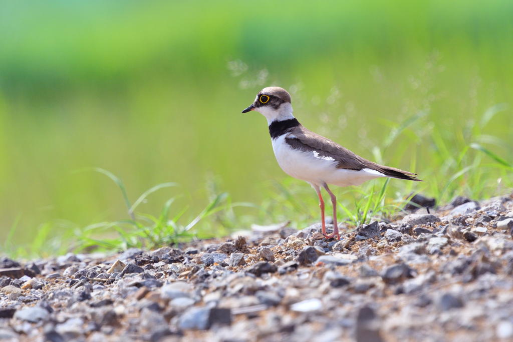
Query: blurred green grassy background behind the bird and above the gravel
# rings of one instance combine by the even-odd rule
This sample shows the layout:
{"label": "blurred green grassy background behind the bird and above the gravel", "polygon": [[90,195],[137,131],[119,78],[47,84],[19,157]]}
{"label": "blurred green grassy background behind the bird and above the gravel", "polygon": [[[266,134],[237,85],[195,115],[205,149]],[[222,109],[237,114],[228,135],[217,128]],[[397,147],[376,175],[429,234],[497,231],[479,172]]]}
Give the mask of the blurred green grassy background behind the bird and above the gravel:
{"label": "blurred green grassy background behind the bird and above the gravel", "polygon": [[[125,217],[110,179],[77,172],[91,167],[132,201],[181,184],[148,213],[178,193],[187,217],[212,191],[262,203],[288,180],[266,120],[241,110],[270,85],[306,127],[428,181],[394,181],[392,196],[497,194],[509,169],[468,146],[513,162],[512,18],[510,0],[0,1],[0,240],[17,219],[24,243],[52,220]],[[478,191],[462,173],[443,192],[472,163]]]}

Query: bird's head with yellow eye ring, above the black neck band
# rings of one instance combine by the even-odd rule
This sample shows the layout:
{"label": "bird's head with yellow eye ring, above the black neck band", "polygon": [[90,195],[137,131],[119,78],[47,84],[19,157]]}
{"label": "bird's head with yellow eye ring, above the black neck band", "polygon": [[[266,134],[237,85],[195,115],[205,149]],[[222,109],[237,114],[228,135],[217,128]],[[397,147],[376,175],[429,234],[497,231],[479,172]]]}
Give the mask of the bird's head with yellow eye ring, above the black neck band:
{"label": "bird's head with yellow eye ring, above the black neck band", "polygon": [[242,112],[257,111],[267,118],[270,124],[273,121],[281,121],[292,118],[292,105],[290,94],[280,87],[267,87],[262,89],[255,102]]}

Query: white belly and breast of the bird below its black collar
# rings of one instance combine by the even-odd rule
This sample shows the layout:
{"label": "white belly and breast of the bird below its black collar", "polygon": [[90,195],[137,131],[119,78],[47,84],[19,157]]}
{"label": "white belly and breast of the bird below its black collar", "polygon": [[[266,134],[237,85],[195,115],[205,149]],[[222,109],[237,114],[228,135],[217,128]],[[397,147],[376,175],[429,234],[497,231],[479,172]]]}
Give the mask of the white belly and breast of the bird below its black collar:
{"label": "white belly and breast of the bird below its black collar", "polygon": [[286,174],[305,180],[314,186],[322,186],[326,183],[347,187],[360,185],[370,179],[385,177],[384,174],[370,169],[360,171],[337,169],[337,162],[333,158],[320,157],[315,152],[302,152],[290,148],[285,143],[285,135],[272,139],[272,149],[278,165]]}

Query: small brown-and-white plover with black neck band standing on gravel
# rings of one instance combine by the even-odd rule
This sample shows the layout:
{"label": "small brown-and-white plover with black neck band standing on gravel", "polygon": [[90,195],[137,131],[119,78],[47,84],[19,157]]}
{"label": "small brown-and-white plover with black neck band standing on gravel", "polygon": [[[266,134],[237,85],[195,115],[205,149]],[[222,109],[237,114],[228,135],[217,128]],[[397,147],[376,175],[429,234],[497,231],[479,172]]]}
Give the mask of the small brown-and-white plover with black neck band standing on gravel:
{"label": "small brown-and-white plover with black neck band standing on gravel", "polygon": [[[262,89],[253,104],[242,113],[250,111],[257,111],[266,117],[274,156],[282,170],[289,176],[304,180],[317,192],[321,207],[322,234],[326,238],[337,236],[340,240],[337,197],[328,188],[328,184],[340,187],[358,186],[379,177],[422,182],[415,173],[370,162],[306,129],[294,117],[290,94],[283,88]],[[326,233],[321,188],[329,194],[333,205],[333,233],[330,235]]]}

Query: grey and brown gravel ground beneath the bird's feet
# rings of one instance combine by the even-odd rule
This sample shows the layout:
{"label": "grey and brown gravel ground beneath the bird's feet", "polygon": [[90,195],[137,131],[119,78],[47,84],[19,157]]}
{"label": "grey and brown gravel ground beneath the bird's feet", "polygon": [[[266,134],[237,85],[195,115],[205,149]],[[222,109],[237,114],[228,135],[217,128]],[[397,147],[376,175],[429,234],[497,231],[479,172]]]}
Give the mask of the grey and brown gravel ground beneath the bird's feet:
{"label": "grey and brown gravel ground beneath the bird's feet", "polygon": [[513,340],[511,196],[457,197],[340,242],[320,224],[284,226],[179,249],[0,259],[0,340]]}

